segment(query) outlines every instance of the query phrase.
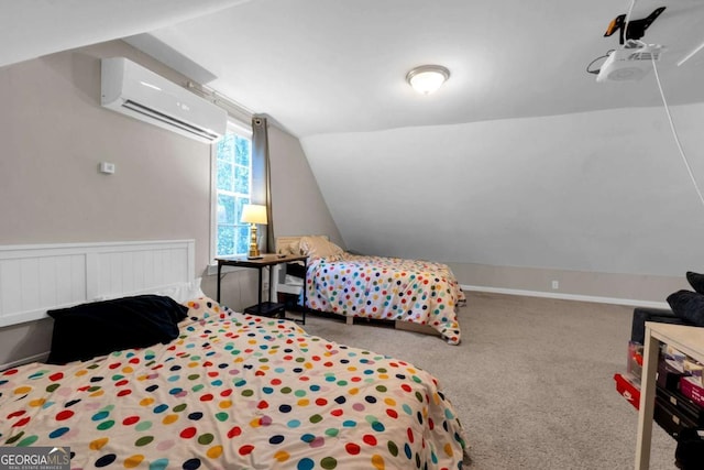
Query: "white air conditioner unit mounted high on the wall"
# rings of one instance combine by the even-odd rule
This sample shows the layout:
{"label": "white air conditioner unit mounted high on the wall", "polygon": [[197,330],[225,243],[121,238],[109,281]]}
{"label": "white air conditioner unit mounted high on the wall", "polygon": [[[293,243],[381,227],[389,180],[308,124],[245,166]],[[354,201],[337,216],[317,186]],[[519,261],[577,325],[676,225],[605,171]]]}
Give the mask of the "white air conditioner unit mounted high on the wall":
{"label": "white air conditioner unit mounted high on the wall", "polygon": [[224,109],[124,57],[101,61],[105,108],[210,143],[228,124]]}

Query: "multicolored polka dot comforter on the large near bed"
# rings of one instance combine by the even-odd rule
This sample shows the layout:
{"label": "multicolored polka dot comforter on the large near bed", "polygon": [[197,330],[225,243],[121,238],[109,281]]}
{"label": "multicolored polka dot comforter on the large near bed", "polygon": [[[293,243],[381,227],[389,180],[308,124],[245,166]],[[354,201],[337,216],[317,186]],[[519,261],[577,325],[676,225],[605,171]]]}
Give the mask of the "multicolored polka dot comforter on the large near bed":
{"label": "multicolored polka dot comforter on the large near bed", "polygon": [[432,375],[209,299],[167,345],[0,372],[0,446],[73,469],[458,469]]}

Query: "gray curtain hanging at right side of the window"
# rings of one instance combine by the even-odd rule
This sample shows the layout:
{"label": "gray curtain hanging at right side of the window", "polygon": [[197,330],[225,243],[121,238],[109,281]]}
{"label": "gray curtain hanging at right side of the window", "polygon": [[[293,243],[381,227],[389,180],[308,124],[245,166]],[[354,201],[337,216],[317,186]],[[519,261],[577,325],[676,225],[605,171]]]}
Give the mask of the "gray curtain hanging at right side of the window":
{"label": "gray curtain hanging at right side of the window", "polygon": [[252,117],[252,204],[266,206],[266,237],[260,243],[264,253],[274,252],[274,218],[272,217],[272,172],[268,157],[266,118]]}

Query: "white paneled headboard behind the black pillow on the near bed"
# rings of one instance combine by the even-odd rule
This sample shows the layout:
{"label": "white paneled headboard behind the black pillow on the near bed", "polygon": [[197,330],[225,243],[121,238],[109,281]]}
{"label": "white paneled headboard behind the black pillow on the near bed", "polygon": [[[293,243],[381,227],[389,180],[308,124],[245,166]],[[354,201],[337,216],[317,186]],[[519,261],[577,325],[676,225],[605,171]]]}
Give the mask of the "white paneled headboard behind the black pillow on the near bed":
{"label": "white paneled headboard behind the black pillow on the near bed", "polygon": [[0,327],[195,280],[195,241],[0,245]]}

